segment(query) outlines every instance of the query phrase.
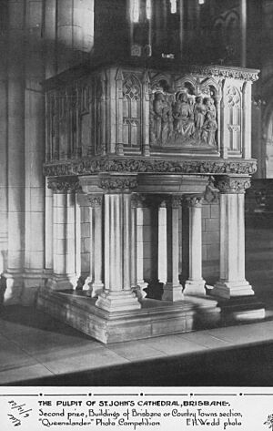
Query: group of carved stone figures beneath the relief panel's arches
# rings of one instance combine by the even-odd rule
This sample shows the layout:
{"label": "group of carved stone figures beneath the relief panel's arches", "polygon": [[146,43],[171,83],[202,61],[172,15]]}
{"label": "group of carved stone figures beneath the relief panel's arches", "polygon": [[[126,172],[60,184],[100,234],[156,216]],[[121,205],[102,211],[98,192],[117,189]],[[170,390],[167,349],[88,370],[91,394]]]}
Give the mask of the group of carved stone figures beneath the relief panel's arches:
{"label": "group of carved stone figures beneath the relief panel's arches", "polygon": [[150,106],[150,141],[154,145],[215,147],[217,110],[212,97],[157,91]]}

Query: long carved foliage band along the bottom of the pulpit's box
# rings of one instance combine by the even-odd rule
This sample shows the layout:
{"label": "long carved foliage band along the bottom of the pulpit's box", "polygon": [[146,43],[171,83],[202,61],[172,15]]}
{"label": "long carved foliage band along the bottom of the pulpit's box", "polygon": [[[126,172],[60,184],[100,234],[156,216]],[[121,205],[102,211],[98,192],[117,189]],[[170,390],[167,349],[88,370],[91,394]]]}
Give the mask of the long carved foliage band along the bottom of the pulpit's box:
{"label": "long carved foliage band along the bottom of the pulpit's box", "polygon": [[96,175],[99,172],[120,173],[211,173],[252,175],[256,161],[230,160],[157,160],[157,159],[82,159],[61,164],[45,164],[46,177]]}

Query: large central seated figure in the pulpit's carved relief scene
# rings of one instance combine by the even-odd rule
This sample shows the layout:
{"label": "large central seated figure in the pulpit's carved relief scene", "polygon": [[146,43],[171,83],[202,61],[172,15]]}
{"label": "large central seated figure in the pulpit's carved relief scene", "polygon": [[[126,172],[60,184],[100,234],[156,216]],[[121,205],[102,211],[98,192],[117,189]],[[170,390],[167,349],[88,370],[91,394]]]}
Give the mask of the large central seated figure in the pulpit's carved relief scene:
{"label": "large central seated figure in the pulpit's carved relief scene", "polygon": [[179,93],[173,108],[174,130],[176,136],[191,137],[195,131],[193,106],[187,93]]}

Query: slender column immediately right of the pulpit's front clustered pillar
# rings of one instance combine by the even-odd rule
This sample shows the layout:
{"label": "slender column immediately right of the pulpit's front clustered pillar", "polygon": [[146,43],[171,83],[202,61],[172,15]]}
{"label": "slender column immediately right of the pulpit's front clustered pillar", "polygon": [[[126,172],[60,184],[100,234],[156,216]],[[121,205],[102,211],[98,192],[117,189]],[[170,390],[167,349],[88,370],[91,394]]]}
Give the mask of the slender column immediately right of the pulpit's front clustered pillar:
{"label": "slender column immediately right of the pulpit's front clustered pillar", "polygon": [[145,298],[147,282],[143,279],[143,209],[145,199],[132,195],[132,287],[138,298]]}

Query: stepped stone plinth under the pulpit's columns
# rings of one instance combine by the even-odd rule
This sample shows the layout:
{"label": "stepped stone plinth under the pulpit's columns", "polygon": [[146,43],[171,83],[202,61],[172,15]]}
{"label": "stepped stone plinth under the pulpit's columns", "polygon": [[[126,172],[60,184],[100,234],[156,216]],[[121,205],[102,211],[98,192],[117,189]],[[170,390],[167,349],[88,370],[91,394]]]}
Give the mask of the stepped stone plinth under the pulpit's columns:
{"label": "stepped stone plinth under the pulpit's columns", "polygon": [[83,291],[42,289],[37,307],[102,343],[116,343],[159,335],[186,333],[219,319],[217,302],[191,297],[171,303],[143,299],[141,309],[114,311],[96,307],[96,299]]}

